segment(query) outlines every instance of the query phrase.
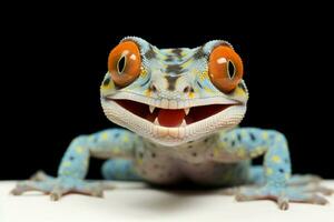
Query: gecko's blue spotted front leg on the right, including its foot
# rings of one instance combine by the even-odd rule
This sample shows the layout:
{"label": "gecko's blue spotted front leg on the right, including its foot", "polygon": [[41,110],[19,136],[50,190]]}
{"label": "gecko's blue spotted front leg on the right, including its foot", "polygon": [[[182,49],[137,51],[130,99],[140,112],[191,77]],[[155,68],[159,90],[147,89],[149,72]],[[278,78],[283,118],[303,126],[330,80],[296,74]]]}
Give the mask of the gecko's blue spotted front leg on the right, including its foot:
{"label": "gecko's blue spotted front leg on the right, including its foot", "polygon": [[291,186],[291,160],[285,137],[274,130],[252,128],[235,129],[220,133],[219,141],[213,151],[216,161],[238,161],[264,154],[262,186],[242,188],[238,201],[271,199],[286,210],[288,201],[325,204],[326,200],[316,192],[322,189],[310,189],[310,184]]}

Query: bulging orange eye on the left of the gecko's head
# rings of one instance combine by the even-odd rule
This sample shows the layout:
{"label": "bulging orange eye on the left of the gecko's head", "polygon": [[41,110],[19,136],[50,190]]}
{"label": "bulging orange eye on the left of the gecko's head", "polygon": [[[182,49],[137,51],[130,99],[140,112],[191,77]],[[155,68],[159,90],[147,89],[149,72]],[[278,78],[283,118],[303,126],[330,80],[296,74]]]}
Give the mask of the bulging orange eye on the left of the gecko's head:
{"label": "bulging orange eye on the left of the gecko's head", "polygon": [[108,70],[117,87],[127,87],[140,74],[141,58],[135,42],[126,41],[115,47],[108,59]]}

